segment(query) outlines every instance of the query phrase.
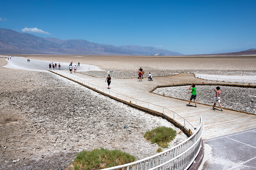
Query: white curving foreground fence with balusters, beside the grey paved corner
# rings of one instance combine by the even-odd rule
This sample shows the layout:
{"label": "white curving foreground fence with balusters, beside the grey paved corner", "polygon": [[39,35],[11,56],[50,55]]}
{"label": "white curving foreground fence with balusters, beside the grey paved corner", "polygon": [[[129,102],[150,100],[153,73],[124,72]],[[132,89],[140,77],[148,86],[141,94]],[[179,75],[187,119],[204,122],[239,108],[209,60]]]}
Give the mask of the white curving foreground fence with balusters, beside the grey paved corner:
{"label": "white curving foreground fence with balusters, beside the grey paved corner", "polygon": [[137,160],[135,162],[105,168],[104,170],[114,169],[188,169],[196,159],[202,142],[204,123],[200,116],[200,125],[196,132],[182,143],[169,148],[158,154]]}

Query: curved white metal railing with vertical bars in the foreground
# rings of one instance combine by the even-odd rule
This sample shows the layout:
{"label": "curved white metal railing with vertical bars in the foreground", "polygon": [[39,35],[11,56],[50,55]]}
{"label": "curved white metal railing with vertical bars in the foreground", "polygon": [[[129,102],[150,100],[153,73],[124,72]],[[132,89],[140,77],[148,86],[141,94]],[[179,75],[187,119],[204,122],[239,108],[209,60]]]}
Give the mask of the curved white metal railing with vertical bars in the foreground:
{"label": "curved white metal railing with vertical bars in the foreground", "polygon": [[[178,145],[176,145],[172,148],[169,148],[165,151],[157,153],[155,155],[146,157],[144,159],[140,159],[140,160],[137,160],[137,161],[134,161],[134,162],[131,162],[131,163],[127,163],[127,164],[123,164],[123,165],[119,165],[119,166],[105,168],[104,170],[114,170],[114,169],[125,168],[125,167],[126,167],[126,169],[129,169],[130,166],[132,166],[132,168],[134,168],[134,165],[136,167],[138,167],[138,165],[141,166],[140,169],[147,169],[146,168],[146,163],[144,163],[144,166],[143,166],[143,165],[141,165],[142,162],[147,162],[147,160],[153,159],[152,160],[153,162],[149,162],[148,164],[151,164],[151,165],[154,166],[154,158],[157,159],[157,157],[160,157],[159,158],[160,160],[159,161],[156,160],[156,166],[154,166],[152,168],[150,168],[150,165],[149,165],[149,169],[156,169],[156,168],[162,167],[162,166],[164,166],[167,163],[170,163],[172,161],[176,161],[176,162],[169,165],[169,169],[172,169],[172,168],[170,168],[170,166],[175,166],[177,164],[182,164],[182,163],[183,164],[180,165],[180,166],[184,166],[184,163],[186,164],[186,166],[184,168],[181,168],[181,169],[188,169],[190,167],[190,165],[193,163],[193,161],[195,160],[195,158],[197,157],[197,155],[200,151],[203,132],[204,132],[204,124],[203,124],[203,121],[202,121],[202,116],[200,116],[200,125],[197,128],[197,131],[194,134],[192,134],[188,139],[183,141],[182,143],[180,143],[180,144],[178,144]],[[198,134],[199,134],[199,136],[198,136]],[[196,137],[196,140],[194,139],[195,137]],[[186,150],[184,150],[184,149],[186,149]],[[179,153],[179,151],[181,151],[181,150],[184,150],[184,151]],[[192,152],[189,152],[191,150],[192,150]],[[176,155],[175,157],[172,156],[173,158],[167,160],[168,158],[170,158],[170,154],[167,155],[165,153],[167,153],[167,152],[170,153],[171,151],[174,151],[172,153],[177,153],[178,155]],[[188,152],[189,152],[189,154],[185,155]],[[191,156],[191,153],[193,154],[193,152],[194,152],[194,155]],[[163,159],[161,159],[162,155],[163,155]],[[180,158],[183,155],[185,155],[185,157],[183,157],[182,160],[179,160],[178,158]],[[165,162],[164,162],[164,156],[166,156]],[[185,162],[184,159],[189,160],[189,162]],[[161,160],[163,160],[163,163],[160,164]],[[159,164],[158,164],[158,162],[159,162]]]}

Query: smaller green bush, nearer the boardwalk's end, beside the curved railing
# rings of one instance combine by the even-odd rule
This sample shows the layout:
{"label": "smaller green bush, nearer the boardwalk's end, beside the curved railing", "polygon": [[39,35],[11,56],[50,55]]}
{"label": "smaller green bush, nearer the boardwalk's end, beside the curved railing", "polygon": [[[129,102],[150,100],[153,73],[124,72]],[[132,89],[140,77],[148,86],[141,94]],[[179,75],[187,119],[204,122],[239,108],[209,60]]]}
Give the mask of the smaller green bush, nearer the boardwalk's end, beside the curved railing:
{"label": "smaller green bush, nearer the boardwalk's end, beside the curved railing", "polygon": [[176,130],[165,126],[157,127],[155,129],[152,129],[151,131],[147,131],[144,134],[144,137],[147,140],[150,140],[151,143],[157,143],[158,146],[161,147],[168,147],[168,143],[172,141],[175,136]]}

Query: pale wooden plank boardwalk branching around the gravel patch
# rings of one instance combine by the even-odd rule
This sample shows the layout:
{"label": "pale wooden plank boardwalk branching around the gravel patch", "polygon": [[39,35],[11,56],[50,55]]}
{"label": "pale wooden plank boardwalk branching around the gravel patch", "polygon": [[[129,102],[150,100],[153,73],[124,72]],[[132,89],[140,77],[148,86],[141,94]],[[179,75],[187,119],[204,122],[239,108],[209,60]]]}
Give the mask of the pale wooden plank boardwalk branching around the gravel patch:
{"label": "pale wooden plank boardwalk branching around the gravel patch", "polygon": [[[203,139],[210,139],[213,137],[223,136],[242,130],[248,130],[256,127],[256,115],[240,113],[231,110],[213,111],[210,110],[210,106],[198,104],[198,107],[187,107],[187,101],[182,101],[178,99],[163,97],[157,94],[149,93],[148,91],[155,87],[156,85],[166,85],[166,84],[177,84],[179,83],[196,83],[196,82],[205,82],[206,80],[200,80],[194,78],[194,75],[191,73],[183,73],[175,76],[166,76],[166,77],[154,77],[153,81],[147,81],[147,78],[144,78],[142,82],[138,81],[136,78],[127,78],[127,79],[112,79],[111,82],[111,91],[107,89],[107,83],[105,83],[106,78],[96,78],[92,76],[87,76],[84,74],[70,74],[67,70],[59,71],[80,79],[84,81],[84,84],[90,83],[88,85],[94,85],[94,88],[103,91],[114,97],[120,98],[122,100],[131,101],[143,107],[163,112],[169,117],[173,118],[173,112],[175,111],[180,116],[184,117],[188,122],[190,122],[194,127],[197,127],[200,122],[200,116],[203,118],[205,125],[205,132]],[[127,97],[128,96],[128,97]],[[131,98],[129,98],[131,97]],[[133,99],[132,99],[133,98]],[[143,102],[141,102],[141,101]],[[152,104],[155,105],[152,105]],[[175,120],[179,123],[184,124],[184,120],[175,116]],[[186,127],[192,129],[193,127],[189,124],[186,124]]]}

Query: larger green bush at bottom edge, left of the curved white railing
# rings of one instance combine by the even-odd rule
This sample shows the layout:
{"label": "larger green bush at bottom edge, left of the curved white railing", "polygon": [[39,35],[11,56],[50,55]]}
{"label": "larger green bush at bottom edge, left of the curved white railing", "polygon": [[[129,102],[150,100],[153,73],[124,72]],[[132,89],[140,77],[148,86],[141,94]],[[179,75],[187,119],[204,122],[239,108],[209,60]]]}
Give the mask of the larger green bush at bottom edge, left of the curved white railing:
{"label": "larger green bush at bottom edge, left of the curved white railing", "polygon": [[135,161],[136,158],[120,150],[105,148],[83,150],[76,155],[73,161],[74,169],[103,169]]}

